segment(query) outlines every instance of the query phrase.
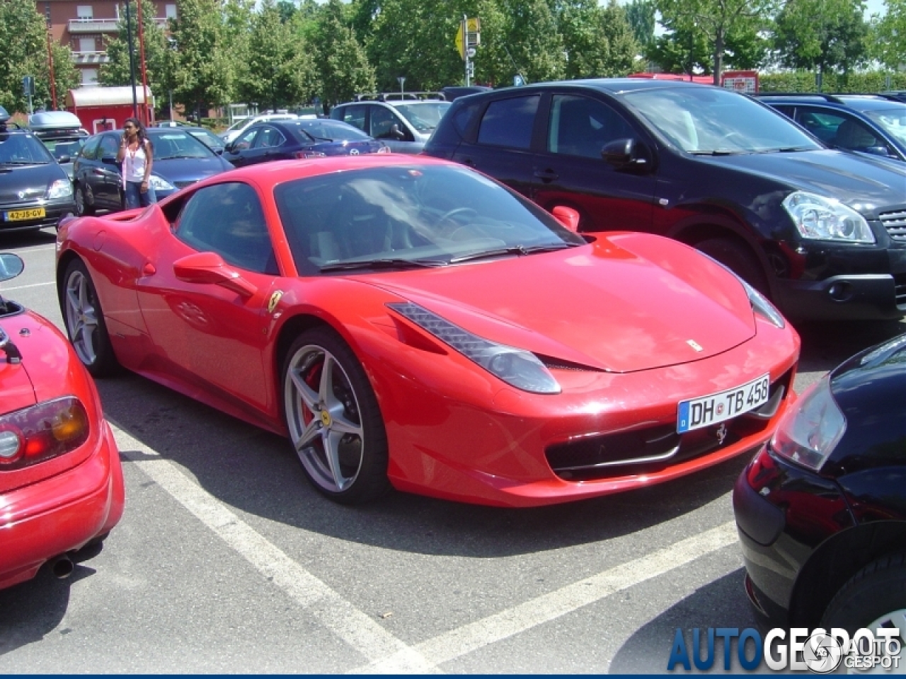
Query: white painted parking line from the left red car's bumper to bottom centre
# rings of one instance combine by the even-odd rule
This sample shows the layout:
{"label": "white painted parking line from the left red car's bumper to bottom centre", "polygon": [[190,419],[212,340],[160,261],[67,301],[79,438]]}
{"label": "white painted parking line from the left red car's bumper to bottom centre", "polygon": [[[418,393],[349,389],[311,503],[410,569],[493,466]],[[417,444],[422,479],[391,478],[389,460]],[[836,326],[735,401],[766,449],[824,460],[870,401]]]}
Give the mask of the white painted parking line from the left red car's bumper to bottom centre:
{"label": "white painted parking line from the left red car's bumper to bottom centre", "polygon": [[[302,568],[225,504],[193,482],[178,467],[147,445],[112,426],[120,453],[160,488],[192,512],[207,528],[239,552],[266,579],[311,610],[333,634],[370,661],[393,657],[396,672],[429,673],[433,666],[383,627]],[[156,460],[142,459],[152,455]]]}

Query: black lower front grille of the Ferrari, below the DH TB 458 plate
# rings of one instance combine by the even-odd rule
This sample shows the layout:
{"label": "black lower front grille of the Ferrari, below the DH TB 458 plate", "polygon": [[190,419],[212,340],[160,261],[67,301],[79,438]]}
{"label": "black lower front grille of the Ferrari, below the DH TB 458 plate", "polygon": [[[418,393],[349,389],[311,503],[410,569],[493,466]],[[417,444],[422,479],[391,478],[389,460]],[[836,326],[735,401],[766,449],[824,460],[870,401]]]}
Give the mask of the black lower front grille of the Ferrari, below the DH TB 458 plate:
{"label": "black lower front grille of the Ferrari, below the DH TB 458 plate", "polygon": [[591,436],[545,450],[547,464],[564,481],[595,481],[617,476],[657,473],[662,469],[713,453],[728,445],[763,434],[771,417],[786,399],[792,371],[770,389],[764,406],[734,417],[721,425],[678,434],[676,423],[637,429],[631,432]]}

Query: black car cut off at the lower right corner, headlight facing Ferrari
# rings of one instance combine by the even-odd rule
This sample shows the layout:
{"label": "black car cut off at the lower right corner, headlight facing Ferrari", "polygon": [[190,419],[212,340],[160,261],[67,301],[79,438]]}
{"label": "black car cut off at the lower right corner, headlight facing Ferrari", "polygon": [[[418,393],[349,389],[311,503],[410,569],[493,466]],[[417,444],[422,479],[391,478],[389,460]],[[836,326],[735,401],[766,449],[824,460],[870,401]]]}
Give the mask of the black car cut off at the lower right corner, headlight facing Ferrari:
{"label": "black car cut off at the lower right corner, headlight facing Ferrari", "polygon": [[906,335],[805,391],[733,507],[764,620],[906,636]]}

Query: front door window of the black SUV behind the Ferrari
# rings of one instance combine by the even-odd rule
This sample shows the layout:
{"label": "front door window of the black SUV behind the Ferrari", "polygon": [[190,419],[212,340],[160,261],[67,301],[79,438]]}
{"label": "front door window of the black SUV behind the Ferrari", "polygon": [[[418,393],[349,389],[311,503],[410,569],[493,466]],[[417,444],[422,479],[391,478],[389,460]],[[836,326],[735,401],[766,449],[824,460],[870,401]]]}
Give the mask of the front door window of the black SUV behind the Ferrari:
{"label": "front door window of the black SUV behind the Ferrari", "polygon": [[633,136],[629,123],[602,101],[556,95],[551,102],[547,135],[547,149],[551,153],[601,158],[604,145]]}

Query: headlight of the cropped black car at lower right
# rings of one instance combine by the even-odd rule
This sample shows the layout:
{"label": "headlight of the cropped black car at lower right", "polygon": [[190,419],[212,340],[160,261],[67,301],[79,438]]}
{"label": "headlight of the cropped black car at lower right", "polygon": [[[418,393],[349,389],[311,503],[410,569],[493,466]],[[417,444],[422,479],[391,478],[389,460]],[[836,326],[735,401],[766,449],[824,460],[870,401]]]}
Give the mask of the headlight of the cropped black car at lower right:
{"label": "headlight of the cropped black car at lower right", "polygon": [[846,431],[846,418],[831,393],[831,378],[808,387],[786,411],[771,439],[774,452],[817,472]]}

